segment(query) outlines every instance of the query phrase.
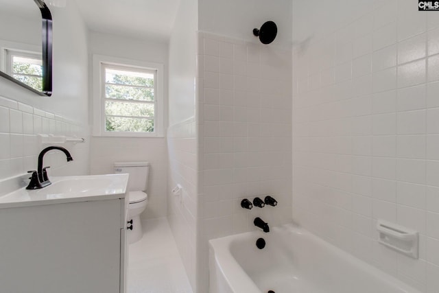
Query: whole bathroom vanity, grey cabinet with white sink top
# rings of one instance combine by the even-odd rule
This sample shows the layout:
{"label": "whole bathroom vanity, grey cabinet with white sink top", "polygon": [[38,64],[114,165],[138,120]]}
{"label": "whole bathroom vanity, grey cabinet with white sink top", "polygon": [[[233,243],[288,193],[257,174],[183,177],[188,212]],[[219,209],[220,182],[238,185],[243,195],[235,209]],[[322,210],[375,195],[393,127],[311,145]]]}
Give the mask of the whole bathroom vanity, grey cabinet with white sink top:
{"label": "whole bathroom vanity, grey cabinet with white sink top", "polygon": [[0,196],[0,292],[125,292],[128,174],[51,181]]}

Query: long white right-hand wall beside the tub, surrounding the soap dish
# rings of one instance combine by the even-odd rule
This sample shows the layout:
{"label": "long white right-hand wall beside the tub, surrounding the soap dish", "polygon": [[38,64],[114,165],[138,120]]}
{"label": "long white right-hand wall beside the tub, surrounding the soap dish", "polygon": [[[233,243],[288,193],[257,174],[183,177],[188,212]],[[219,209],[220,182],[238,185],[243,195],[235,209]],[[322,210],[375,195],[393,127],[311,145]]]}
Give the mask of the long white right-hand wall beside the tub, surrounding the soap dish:
{"label": "long white right-hand wall beside the tub, surrounding the soap dish", "polygon": [[[437,12],[410,0],[294,1],[293,19],[294,219],[438,292]],[[420,258],[381,246],[377,219],[419,231]]]}

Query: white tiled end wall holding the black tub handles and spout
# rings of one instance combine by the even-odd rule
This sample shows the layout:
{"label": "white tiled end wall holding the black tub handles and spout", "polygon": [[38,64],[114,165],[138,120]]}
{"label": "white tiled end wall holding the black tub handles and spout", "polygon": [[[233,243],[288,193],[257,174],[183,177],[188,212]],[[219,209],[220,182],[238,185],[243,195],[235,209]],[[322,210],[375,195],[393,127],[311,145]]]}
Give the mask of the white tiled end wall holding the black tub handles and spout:
{"label": "white tiled end wall holding the black tub handles and spout", "polygon": [[[199,32],[198,279],[207,290],[208,239],[292,218],[291,49]],[[257,42],[257,40],[255,40]],[[242,209],[272,195],[277,207]]]}

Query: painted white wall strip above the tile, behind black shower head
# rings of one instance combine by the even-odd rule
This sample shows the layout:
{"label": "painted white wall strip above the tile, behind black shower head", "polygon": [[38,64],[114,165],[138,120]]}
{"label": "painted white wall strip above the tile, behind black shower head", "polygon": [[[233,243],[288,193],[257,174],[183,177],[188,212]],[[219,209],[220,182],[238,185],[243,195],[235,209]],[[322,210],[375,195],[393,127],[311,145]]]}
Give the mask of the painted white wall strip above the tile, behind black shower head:
{"label": "painted white wall strip above the tile, behind black shower head", "polygon": [[292,0],[200,0],[199,29],[232,38],[259,43],[253,29],[259,29],[265,21],[274,21],[278,35],[272,43],[289,47],[292,36]]}

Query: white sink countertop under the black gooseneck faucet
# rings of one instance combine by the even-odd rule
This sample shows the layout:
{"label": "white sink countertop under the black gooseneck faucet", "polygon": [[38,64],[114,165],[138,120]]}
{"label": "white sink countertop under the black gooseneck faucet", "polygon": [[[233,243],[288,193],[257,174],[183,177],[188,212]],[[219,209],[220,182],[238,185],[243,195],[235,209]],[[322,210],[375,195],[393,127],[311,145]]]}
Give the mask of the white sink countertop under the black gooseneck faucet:
{"label": "white sink countertop under the black gooseneck faucet", "polygon": [[42,189],[22,187],[0,196],[0,209],[125,198],[128,184],[128,174],[53,176],[49,179],[52,184]]}

